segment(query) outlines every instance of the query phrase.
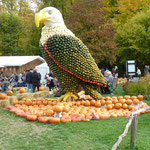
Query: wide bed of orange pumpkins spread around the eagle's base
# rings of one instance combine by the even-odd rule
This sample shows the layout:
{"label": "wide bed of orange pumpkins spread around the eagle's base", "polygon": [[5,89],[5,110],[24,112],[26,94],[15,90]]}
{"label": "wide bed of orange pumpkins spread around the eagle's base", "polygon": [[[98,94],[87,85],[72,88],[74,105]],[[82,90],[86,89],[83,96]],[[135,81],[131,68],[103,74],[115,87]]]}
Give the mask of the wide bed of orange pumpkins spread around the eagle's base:
{"label": "wide bed of orange pumpkins spread around the eagle's base", "polygon": [[[78,122],[91,119],[108,119],[110,117],[129,117],[140,108],[147,107],[143,96],[104,97],[102,100],[79,99],[78,101],[57,102],[56,99],[25,99],[15,101],[7,107],[17,116],[39,122]],[[146,111],[144,113],[147,113]],[[139,113],[140,115],[142,113]]]}

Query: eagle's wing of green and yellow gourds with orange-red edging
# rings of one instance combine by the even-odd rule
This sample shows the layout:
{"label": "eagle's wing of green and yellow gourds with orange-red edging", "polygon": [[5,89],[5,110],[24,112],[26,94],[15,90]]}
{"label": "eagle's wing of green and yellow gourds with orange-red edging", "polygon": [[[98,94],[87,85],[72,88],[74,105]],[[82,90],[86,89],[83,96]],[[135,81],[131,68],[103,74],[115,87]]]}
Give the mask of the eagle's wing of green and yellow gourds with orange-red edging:
{"label": "eagle's wing of green and yellow gourds with orange-red edging", "polygon": [[45,51],[61,69],[82,81],[106,85],[106,80],[88,48],[79,38],[54,35],[46,41]]}

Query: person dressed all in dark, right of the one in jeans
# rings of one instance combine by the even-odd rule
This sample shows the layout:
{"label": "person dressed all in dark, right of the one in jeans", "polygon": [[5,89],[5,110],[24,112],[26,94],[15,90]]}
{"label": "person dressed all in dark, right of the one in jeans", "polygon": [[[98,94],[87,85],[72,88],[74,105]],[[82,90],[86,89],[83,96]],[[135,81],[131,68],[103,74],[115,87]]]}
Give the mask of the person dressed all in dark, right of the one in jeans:
{"label": "person dressed all in dark, right of the one in jeans", "polygon": [[37,87],[38,91],[39,91],[39,81],[40,81],[40,76],[39,73],[37,73],[37,70],[34,69],[33,70],[33,75],[32,75],[32,84],[33,84],[33,93],[35,92],[35,88]]}

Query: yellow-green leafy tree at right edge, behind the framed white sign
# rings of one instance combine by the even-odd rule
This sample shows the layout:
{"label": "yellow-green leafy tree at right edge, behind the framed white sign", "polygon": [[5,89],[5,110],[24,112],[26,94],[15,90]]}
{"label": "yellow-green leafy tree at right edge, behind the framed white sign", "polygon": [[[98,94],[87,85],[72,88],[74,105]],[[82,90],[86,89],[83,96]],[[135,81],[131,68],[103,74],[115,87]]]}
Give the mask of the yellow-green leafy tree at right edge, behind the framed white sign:
{"label": "yellow-green leafy tree at right edge, behind the framed white sign", "polygon": [[122,64],[136,60],[138,66],[150,64],[150,10],[140,12],[120,27],[115,36]]}

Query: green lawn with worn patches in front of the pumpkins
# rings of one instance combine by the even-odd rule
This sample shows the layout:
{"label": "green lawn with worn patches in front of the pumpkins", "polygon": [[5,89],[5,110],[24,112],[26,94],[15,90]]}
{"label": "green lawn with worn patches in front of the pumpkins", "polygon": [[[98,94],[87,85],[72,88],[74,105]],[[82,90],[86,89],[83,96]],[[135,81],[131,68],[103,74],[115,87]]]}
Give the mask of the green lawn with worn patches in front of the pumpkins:
{"label": "green lawn with worn patches in front of the pumpkins", "polygon": [[[115,96],[119,93],[125,94],[120,87]],[[145,102],[150,105],[150,101]],[[0,109],[0,150],[110,150],[127,122],[128,119],[122,117],[90,122],[38,123]],[[150,150],[149,124],[150,113],[139,116],[136,147],[129,147],[129,132],[119,150]]]}

